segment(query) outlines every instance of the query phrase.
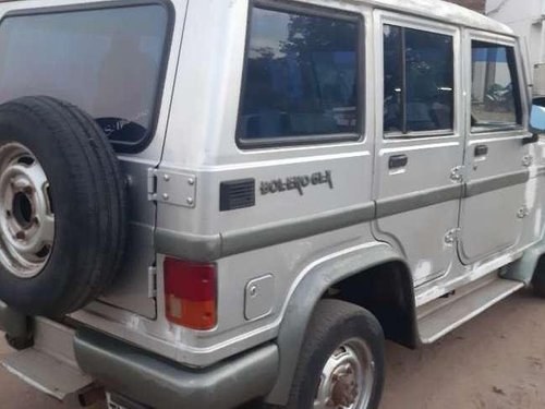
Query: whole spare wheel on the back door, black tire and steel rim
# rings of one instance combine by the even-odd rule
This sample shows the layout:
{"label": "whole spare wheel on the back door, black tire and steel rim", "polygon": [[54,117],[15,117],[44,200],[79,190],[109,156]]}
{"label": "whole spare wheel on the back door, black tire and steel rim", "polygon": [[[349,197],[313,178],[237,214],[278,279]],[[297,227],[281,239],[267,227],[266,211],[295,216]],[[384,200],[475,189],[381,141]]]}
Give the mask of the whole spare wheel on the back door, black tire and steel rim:
{"label": "whole spare wheel on the back door, black tire and steel rim", "polygon": [[50,97],[0,106],[0,299],[61,316],[96,299],[120,267],[125,185],[105,133]]}

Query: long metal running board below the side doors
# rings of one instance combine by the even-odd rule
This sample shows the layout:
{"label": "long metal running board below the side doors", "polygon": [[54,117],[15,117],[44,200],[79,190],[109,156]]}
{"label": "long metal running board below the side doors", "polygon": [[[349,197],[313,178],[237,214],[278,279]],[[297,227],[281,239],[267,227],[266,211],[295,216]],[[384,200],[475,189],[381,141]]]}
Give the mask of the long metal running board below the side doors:
{"label": "long metal running board below the side doors", "polygon": [[523,282],[484,277],[459,292],[440,298],[417,310],[422,344],[432,344],[524,287]]}

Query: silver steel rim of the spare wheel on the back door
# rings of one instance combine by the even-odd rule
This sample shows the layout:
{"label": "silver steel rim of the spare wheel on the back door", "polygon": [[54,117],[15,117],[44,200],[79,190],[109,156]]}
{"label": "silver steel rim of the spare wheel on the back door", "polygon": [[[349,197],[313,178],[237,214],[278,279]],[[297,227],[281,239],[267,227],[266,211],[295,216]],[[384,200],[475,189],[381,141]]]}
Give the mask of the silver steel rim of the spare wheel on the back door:
{"label": "silver steel rim of the spare wheel on the back door", "polygon": [[53,241],[46,172],[24,145],[0,145],[0,263],[19,278],[33,278],[47,264]]}

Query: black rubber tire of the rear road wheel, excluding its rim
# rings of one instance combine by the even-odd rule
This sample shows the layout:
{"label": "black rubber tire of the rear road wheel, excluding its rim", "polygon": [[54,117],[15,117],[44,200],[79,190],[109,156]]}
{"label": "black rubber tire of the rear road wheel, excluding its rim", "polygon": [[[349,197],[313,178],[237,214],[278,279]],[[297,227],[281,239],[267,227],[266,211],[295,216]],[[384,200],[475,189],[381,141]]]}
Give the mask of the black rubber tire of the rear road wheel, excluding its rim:
{"label": "black rubber tire of the rear road wheel, excluding its rim", "polygon": [[286,409],[311,409],[320,382],[322,370],[334,351],[349,339],[364,340],[373,354],[375,376],[372,397],[365,409],[376,409],[384,377],[384,334],[368,311],[339,300],[322,300],[306,330],[298,369]]}

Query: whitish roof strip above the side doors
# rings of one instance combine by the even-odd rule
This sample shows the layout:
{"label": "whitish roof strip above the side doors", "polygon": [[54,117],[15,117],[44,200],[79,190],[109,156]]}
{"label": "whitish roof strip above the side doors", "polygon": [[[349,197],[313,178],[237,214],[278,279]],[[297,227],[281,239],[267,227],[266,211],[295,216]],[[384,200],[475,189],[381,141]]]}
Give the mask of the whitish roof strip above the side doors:
{"label": "whitish roof strip above the side doors", "polygon": [[469,28],[514,36],[514,32],[504,23],[443,0],[325,0],[325,3],[365,3]]}

